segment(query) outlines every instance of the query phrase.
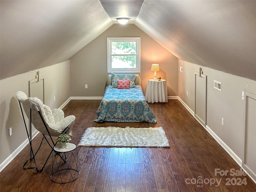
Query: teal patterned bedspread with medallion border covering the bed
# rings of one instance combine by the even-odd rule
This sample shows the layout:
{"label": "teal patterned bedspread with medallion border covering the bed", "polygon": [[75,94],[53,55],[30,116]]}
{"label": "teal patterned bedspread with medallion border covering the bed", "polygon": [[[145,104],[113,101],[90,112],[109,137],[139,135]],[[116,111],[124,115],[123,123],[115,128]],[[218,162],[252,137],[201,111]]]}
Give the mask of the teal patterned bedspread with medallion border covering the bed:
{"label": "teal patterned bedspread with medallion border covering the bed", "polygon": [[107,86],[96,115],[95,122],[157,122],[139,85],[129,89]]}

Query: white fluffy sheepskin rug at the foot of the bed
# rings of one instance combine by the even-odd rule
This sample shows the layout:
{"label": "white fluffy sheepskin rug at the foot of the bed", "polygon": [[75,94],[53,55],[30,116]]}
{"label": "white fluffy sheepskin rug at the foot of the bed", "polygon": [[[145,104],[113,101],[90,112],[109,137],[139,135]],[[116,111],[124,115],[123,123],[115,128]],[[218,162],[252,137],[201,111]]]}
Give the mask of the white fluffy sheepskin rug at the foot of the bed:
{"label": "white fluffy sheepskin rug at the foot of the bed", "polygon": [[162,127],[89,127],[78,146],[170,147]]}

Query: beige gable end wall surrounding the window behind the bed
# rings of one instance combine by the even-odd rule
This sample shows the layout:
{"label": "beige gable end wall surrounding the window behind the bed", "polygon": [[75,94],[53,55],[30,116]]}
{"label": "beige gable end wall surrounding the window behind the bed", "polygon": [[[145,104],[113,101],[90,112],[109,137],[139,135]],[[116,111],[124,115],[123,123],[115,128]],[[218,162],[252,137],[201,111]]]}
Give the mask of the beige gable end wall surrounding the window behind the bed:
{"label": "beige gable end wall surrounding the window behind the bed", "polygon": [[[114,24],[70,59],[71,95],[103,96],[107,78],[107,37],[140,37],[141,79],[145,94],[153,78],[151,64],[159,64],[157,76],[166,79],[168,96],[178,95],[178,59],[134,24]],[[84,85],[88,84],[88,89]]]}

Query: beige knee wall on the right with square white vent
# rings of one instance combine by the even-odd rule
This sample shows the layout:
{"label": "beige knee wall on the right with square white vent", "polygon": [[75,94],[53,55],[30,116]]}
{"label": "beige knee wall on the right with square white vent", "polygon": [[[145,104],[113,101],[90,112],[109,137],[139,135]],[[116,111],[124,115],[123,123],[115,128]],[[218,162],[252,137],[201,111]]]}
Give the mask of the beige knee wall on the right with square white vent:
{"label": "beige knee wall on the right with square white vent", "polygon": [[[198,72],[202,66],[178,60],[178,68],[180,66],[183,67],[183,73],[178,72],[178,96],[194,111],[194,72]],[[242,159],[244,129],[242,91],[247,89],[256,93],[256,81],[207,67],[202,67],[202,71],[207,75],[207,126]],[[214,89],[214,80],[222,82],[221,92]],[[221,124],[222,117],[224,126]]]}

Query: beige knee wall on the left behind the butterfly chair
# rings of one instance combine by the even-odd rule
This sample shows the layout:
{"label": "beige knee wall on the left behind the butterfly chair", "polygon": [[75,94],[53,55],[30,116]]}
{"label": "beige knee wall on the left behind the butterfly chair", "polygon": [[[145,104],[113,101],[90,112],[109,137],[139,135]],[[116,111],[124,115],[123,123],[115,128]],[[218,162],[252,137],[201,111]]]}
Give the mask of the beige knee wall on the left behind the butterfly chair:
{"label": "beige knee wall on the left behind the butterfly chair", "polygon": [[[51,109],[60,107],[70,97],[70,60],[38,70],[44,76],[45,104]],[[27,138],[15,93],[20,90],[28,95],[28,82],[35,78],[38,70],[0,80],[0,163]],[[10,127],[12,135],[9,137]]]}

